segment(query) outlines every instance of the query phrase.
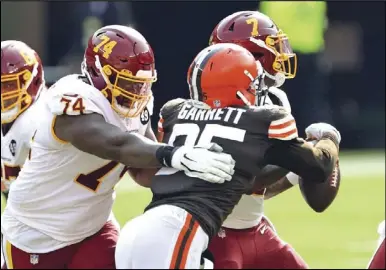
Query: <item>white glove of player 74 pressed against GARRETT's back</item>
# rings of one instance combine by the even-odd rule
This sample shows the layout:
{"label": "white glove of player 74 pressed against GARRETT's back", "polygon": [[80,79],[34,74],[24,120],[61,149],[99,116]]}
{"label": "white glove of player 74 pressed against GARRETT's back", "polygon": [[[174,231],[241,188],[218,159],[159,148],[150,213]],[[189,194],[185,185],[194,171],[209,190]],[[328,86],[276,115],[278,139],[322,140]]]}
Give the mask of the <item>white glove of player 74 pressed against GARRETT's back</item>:
{"label": "white glove of player 74 pressed against GARRETT's back", "polygon": [[222,151],[222,147],[215,143],[181,146],[173,153],[171,165],[190,177],[221,184],[230,181],[235,173],[235,160]]}

